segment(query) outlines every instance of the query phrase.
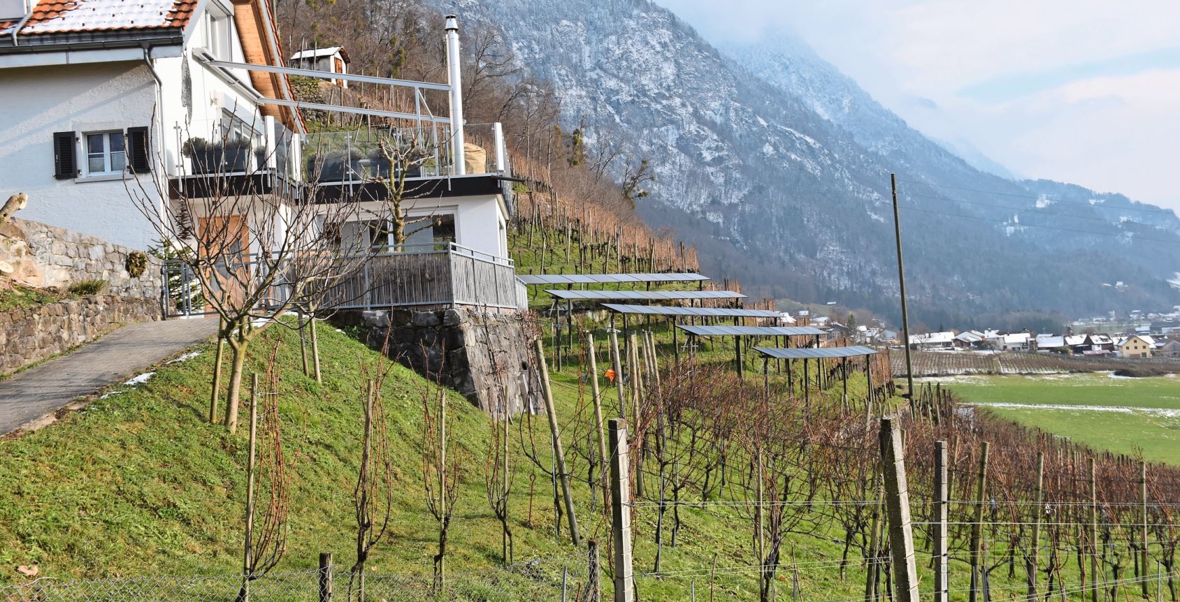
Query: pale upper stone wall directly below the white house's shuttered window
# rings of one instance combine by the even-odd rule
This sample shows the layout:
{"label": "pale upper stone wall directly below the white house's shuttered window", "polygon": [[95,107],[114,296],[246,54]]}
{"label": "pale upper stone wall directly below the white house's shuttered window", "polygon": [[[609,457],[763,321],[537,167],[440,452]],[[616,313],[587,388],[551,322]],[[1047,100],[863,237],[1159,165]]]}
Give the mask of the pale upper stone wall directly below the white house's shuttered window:
{"label": "pale upper stone wall directly below the white house's shuttered window", "polygon": [[0,226],[0,262],[15,269],[12,279],[26,286],[66,289],[81,280],[106,280],[106,295],[158,299],[162,290],[159,262],[149,256],[138,278],[124,264],[135,251],[73,230],[13,219]]}

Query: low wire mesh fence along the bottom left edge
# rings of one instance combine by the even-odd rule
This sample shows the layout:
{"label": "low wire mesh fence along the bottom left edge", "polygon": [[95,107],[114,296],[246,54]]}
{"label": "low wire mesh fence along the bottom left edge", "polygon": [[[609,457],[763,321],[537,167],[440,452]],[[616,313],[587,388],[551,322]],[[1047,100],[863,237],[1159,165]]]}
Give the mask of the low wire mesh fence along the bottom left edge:
{"label": "low wire mesh fence along the bottom left edge", "polygon": [[[330,575],[330,578],[329,578]],[[394,602],[588,600],[585,557],[536,558],[509,567],[448,570],[442,588],[431,574],[366,571],[360,580],[339,567],[271,571],[244,583],[241,575],[145,575],[98,580],[42,577],[0,586],[0,602]]]}

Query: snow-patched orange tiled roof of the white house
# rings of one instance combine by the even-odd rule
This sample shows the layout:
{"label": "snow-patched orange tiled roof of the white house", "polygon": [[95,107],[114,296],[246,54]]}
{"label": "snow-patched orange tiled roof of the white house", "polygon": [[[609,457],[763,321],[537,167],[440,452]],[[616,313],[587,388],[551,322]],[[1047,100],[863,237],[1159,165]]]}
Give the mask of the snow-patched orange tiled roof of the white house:
{"label": "snow-patched orange tiled roof of the white house", "polygon": [[[20,29],[38,33],[184,28],[197,0],[41,0]],[[0,22],[0,35],[17,24]]]}

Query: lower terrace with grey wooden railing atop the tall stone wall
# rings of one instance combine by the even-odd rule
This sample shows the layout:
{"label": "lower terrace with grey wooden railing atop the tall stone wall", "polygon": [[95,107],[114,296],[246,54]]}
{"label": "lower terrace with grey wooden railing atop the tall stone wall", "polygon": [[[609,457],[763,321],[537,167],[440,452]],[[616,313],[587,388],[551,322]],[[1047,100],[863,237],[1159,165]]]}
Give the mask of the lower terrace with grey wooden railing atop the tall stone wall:
{"label": "lower terrace with grey wooden railing atop the tall stone wall", "polygon": [[439,309],[460,305],[514,311],[526,304],[511,259],[454,243],[387,247],[367,256],[348,280],[336,285],[324,307],[376,310]]}

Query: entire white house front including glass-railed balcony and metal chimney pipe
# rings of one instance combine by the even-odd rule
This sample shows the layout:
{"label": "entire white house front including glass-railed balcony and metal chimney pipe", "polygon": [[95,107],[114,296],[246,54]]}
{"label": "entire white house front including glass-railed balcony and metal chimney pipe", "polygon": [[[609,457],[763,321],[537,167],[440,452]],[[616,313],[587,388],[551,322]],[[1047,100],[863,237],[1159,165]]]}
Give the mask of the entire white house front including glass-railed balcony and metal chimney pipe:
{"label": "entire white house front including glass-railed balcony and metal chimney pipe", "polygon": [[[9,6],[14,1],[20,6]],[[164,216],[182,199],[228,191],[310,201],[326,207],[324,214],[327,207],[348,204],[355,210],[348,212],[352,221],[330,225],[342,242],[365,240],[382,256],[439,256],[433,263],[386,259],[374,272],[385,280],[356,284],[384,291],[366,295],[361,306],[460,299],[518,306],[511,299],[519,291],[513,291],[507,250],[507,153],[499,124],[468,127],[463,119],[455,18],[446,20],[447,79],[454,85],[408,82],[447,92],[448,117],[376,111],[379,121],[399,126],[314,138],[301,107],[362,110],[309,107],[295,98],[288,77],[307,72],[284,65],[269,2],[28,1],[0,1],[0,139],[7,143],[0,146],[0,185],[28,196],[21,217],[146,250],[159,245],[160,233],[145,213]],[[332,75],[356,77],[347,70]],[[412,140],[424,150],[412,173],[391,170],[387,158],[382,171],[382,158],[374,153],[378,139]],[[402,188],[409,234],[396,249],[387,185],[393,179]],[[195,227],[204,227],[205,219],[211,218],[196,216]],[[255,227],[260,217],[250,209],[219,219],[241,219],[251,232],[267,230]],[[280,218],[268,219],[269,230],[281,230],[274,227]],[[262,244],[253,240],[242,252],[261,252]],[[398,270],[407,263],[418,266],[413,278],[447,280],[447,286],[406,300],[395,284],[405,282]],[[427,273],[438,270],[448,278]]]}

